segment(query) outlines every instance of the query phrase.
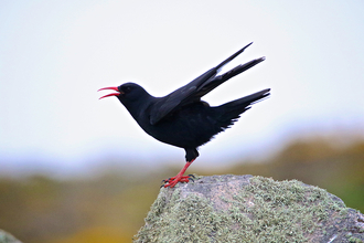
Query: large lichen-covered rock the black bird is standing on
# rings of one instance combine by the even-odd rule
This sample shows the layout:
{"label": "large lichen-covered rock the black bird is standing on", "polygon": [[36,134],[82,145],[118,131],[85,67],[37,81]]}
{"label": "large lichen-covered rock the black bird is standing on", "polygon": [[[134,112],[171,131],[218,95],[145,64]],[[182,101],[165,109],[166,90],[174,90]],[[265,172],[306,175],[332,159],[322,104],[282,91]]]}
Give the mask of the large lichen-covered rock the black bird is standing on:
{"label": "large lichen-covered rock the black bird is standing on", "polygon": [[300,181],[199,177],[162,188],[135,242],[364,242],[364,215]]}

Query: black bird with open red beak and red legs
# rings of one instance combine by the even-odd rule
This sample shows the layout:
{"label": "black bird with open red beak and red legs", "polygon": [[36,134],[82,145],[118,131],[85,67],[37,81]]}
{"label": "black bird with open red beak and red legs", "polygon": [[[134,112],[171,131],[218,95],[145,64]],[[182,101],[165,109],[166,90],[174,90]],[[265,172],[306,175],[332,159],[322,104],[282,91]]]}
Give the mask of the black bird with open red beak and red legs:
{"label": "black bird with open red beak and red legs", "polygon": [[175,177],[164,180],[164,188],[173,188],[178,182],[189,182],[190,177],[183,173],[199,157],[197,147],[232,126],[242,113],[250,108],[250,105],[269,96],[270,88],[267,88],[216,107],[211,107],[201,101],[202,96],[225,81],[265,60],[265,57],[253,60],[217,76],[225,64],[250,44],[164,97],[151,96],[135,83],[99,89],[116,91],[100,98],[116,96],[147,134],[162,142],[184,148],[186,163]]}

